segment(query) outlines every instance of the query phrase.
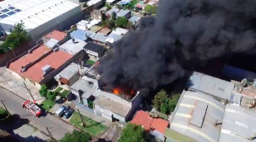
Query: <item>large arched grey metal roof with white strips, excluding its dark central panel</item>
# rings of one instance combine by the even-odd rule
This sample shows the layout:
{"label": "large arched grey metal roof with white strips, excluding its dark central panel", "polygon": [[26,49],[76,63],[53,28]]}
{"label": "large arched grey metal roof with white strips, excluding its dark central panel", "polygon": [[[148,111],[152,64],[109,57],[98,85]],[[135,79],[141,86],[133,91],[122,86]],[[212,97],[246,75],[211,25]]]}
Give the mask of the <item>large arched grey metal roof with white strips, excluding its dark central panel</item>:
{"label": "large arched grey metal roof with white strips, excluding its dark central panel", "polygon": [[[192,118],[197,119],[197,117],[201,117],[201,115],[192,115],[193,111],[198,107],[197,103],[205,103],[208,105],[207,111],[205,109],[201,110],[206,111],[201,128],[190,124]],[[224,104],[205,94],[183,91],[183,98],[180,104],[177,105],[177,112],[172,120],[170,129],[189,136],[199,142],[218,142],[221,125],[215,124],[222,122]],[[197,111],[200,111],[200,109]]]}

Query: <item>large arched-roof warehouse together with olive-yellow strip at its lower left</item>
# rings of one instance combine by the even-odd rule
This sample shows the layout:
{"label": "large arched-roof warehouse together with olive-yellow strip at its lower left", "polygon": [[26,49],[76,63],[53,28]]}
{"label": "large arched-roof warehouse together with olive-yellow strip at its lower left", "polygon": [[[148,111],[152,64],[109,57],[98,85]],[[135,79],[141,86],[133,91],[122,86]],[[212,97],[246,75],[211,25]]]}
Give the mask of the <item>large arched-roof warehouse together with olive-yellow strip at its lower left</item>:
{"label": "large arched-roof warehouse together with olive-yellow strip at its lower left", "polygon": [[166,142],[218,142],[224,110],[223,103],[207,94],[183,91],[164,133]]}

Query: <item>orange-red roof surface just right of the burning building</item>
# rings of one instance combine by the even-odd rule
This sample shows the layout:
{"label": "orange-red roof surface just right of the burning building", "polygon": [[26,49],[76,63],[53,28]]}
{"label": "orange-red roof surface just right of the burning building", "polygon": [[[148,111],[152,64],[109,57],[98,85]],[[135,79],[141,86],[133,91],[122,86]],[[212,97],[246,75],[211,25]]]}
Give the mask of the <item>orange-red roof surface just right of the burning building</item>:
{"label": "orange-red roof surface just right of the burning building", "polygon": [[131,120],[131,123],[136,125],[143,125],[146,131],[150,131],[151,126],[152,131],[157,130],[160,133],[164,133],[169,125],[168,121],[161,118],[150,117],[150,114],[145,111],[138,111],[134,118]]}

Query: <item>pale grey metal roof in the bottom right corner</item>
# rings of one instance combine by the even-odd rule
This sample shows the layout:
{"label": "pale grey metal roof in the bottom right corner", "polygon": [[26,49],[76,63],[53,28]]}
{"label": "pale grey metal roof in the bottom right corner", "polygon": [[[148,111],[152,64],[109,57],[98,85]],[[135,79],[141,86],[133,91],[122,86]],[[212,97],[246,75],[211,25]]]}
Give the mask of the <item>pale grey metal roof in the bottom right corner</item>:
{"label": "pale grey metal roof in the bottom right corner", "polygon": [[226,105],[219,142],[256,142],[256,112]]}

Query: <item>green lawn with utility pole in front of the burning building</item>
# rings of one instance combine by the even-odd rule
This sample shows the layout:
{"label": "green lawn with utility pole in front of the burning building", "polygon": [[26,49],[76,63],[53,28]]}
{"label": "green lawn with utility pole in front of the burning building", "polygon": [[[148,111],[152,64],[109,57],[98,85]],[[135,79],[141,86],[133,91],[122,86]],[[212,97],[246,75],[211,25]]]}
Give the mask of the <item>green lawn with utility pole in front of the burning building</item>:
{"label": "green lawn with utility pole in front of the burning building", "polygon": [[102,131],[105,130],[106,127],[104,125],[102,125],[100,122],[96,122],[86,116],[83,116],[83,115],[82,115],[82,117],[85,120],[85,124],[86,124],[85,127],[82,127],[80,125],[80,123],[82,121],[79,116],[79,113],[76,111],[74,112],[70,122],[73,123],[74,125],[78,126],[79,128],[83,129],[84,131],[87,131],[88,133],[92,134],[93,136],[97,136],[99,133],[101,133]]}

